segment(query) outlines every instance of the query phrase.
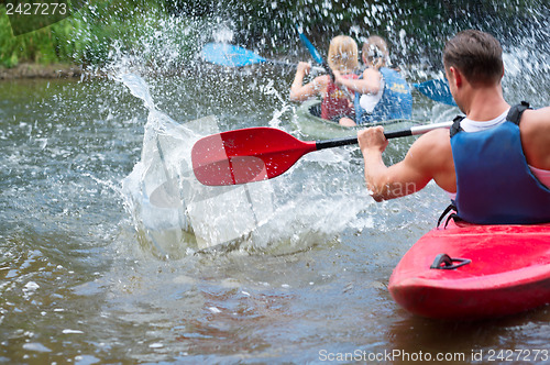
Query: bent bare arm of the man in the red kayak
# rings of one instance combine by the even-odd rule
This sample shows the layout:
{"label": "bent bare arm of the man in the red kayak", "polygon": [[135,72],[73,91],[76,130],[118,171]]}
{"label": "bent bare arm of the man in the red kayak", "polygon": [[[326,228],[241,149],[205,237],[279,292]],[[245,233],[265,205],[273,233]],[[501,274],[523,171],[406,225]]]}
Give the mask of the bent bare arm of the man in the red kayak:
{"label": "bent bare arm of the man in the red kayak", "polygon": [[399,198],[422,189],[431,179],[455,191],[454,165],[448,130],[431,131],[418,139],[405,158],[387,167],[382,154],[388,142],[381,126],[360,131],[359,145],[365,163],[365,180],[374,200]]}

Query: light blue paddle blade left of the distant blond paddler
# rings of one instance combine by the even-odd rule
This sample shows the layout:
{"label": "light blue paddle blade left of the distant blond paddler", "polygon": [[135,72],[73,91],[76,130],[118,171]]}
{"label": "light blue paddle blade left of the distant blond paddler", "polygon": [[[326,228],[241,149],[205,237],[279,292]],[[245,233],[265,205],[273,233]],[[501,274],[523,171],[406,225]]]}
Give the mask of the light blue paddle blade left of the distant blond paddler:
{"label": "light blue paddle blade left of the distant blond paddler", "polygon": [[[296,67],[296,64],[283,60],[267,59],[252,51],[227,43],[208,43],[201,52],[205,60],[220,66],[241,67],[253,64],[270,63],[282,66]],[[321,67],[311,67],[315,71],[323,71]]]}

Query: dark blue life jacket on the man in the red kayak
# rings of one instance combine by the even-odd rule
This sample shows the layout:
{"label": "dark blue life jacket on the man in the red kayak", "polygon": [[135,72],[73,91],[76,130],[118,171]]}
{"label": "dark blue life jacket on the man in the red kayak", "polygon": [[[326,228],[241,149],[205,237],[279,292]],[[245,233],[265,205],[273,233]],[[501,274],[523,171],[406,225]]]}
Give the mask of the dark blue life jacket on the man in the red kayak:
{"label": "dark blue life jacket on the man in the red kayak", "polygon": [[463,132],[463,117],[454,120],[451,147],[460,219],[477,224],[550,222],[550,189],[532,175],[521,146],[519,120],[528,107],[513,107],[503,124],[481,132]]}

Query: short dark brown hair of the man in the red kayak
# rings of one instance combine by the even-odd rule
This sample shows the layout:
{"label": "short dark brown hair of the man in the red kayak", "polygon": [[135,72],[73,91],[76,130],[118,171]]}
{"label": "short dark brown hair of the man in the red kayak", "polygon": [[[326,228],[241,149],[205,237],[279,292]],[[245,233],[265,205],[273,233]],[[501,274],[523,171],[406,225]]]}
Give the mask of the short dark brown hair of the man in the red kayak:
{"label": "short dark brown hair of the man in the red kayak", "polygon": [[472,84],[497,82],[504,70],[503,47],[488,33],[463,31],[447,42],[443,65],[457,67]]}

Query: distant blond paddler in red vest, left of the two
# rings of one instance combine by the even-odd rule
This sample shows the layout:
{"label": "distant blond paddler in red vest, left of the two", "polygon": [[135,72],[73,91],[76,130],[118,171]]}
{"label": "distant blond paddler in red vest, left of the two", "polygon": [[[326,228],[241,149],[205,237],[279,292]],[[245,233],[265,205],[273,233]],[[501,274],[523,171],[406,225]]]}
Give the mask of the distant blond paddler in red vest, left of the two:
{"label": "distant blond paddler in red vest, left of the two", "polygon": [[[358,78],[359,48],[355,41],[346,35],[338,35],[330,41],[329,67],[341,75],[341,78]],[[338,122],[343,117],[354,118],[355,110],[353,101],[350,100],[349,91],[340,89],[329,75],[316,77],[312,81],[304,85],[304,77],[309,74],[311,66],[300,62],[294,82],[290,87],[292,101],[305,101],[321,96],[321,118]],[[348,95],[346,95],[348,93]],[[353,95],[353,92],[351,92]]]}

